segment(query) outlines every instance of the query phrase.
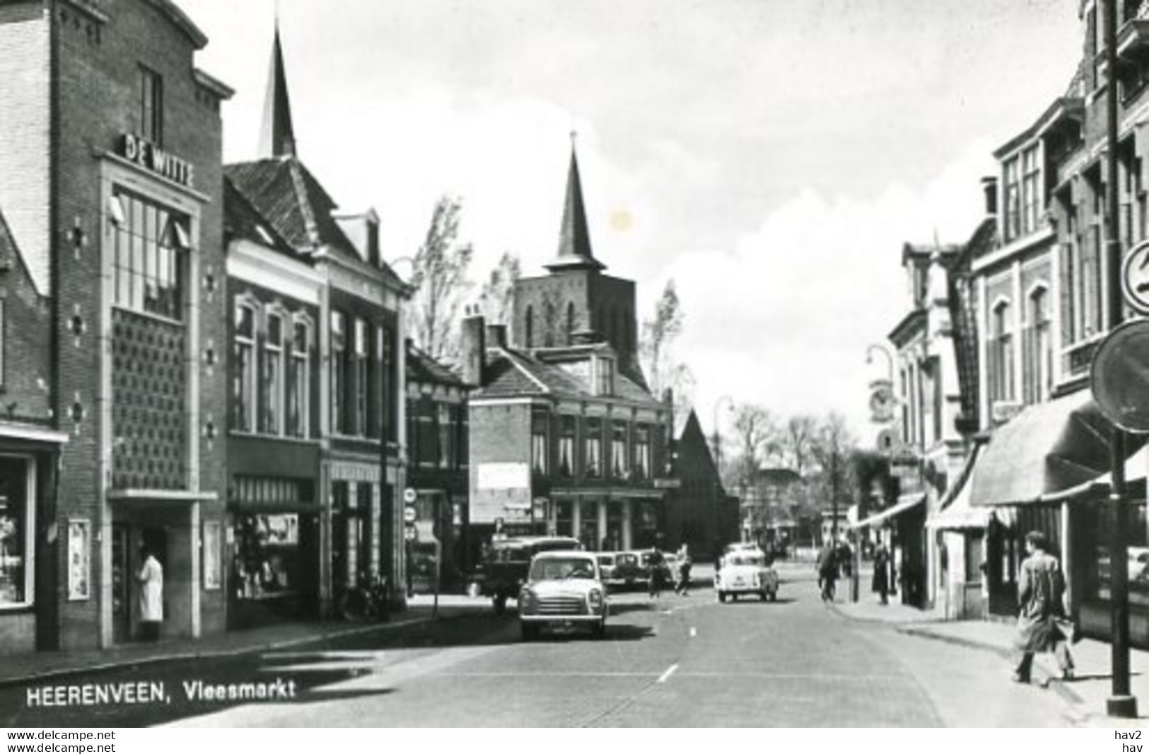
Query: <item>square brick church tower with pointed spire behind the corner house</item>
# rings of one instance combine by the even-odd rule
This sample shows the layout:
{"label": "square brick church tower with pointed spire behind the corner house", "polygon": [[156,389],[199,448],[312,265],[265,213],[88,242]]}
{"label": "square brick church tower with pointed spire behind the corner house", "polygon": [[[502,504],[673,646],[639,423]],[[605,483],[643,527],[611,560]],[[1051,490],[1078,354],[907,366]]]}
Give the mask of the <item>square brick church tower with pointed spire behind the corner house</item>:
{"label": "square brick church tower with pointed spire behind the corner house", "polygon": [[634,282],[604,275],[594,256],[578,154],[571,144],[558,254],[548,274],[515,285],[514,341],[520,348],[609,343],[623,371],[645,384],[638,361]]}

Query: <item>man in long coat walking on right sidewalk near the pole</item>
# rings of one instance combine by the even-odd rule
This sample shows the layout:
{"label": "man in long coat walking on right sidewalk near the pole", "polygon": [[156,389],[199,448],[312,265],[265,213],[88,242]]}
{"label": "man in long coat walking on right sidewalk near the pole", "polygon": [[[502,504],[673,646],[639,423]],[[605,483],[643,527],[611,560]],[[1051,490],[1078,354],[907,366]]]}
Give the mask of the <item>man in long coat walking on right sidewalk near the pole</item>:
{"label": "man in long coat walking on right sidewalk near the pole", "polygon": [[1021,659],[1013,669],[1017,683],[1030,683],[1036,652],[1052,652],[1062,678],[1069,680],[1073,677],[1069,637],[1058,625],[1065,621],[1065,577],[1057,559],[1048,549],[1048,540],[1040,531],[1025,536],[1027,557],[1021,561],[1017,584],[1017,648],[1021,652]]}

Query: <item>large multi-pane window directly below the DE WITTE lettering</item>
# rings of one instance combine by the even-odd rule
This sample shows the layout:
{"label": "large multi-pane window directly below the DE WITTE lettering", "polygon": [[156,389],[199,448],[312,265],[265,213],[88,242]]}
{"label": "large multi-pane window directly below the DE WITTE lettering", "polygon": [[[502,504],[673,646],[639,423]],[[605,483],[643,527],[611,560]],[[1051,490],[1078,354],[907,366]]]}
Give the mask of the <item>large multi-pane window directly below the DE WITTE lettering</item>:
{"label": "large multi-pane window directly below the DE WITTE lettering", "polygon": [[123,216],[115,223],[116,306],[182,321],[188,218],[118,188],[114,200]]}

